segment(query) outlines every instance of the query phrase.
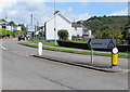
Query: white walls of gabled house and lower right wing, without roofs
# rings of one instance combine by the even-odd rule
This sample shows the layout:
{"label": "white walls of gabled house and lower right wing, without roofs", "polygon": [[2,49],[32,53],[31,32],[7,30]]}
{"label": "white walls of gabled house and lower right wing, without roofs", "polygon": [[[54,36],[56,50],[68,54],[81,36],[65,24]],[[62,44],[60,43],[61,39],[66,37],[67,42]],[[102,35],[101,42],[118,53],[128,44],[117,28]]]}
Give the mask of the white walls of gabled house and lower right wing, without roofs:
{"label": "white walls of gabled house and lower right wing, without roofs", "polygon": [[[68,39],[72,40],[72,36],[82,36],[82,35],[89,35],[91,37],[91,30],[88,30],[83,32],[83,29],[87,29],[87,27],[77,27],[77,30],[75,27],[72,27],[72,23],[63,18],[61,15],[56,15],[56,40],[58,39],[57,31],[60,29],[66,29],[68,30],[69,37]],[[46,24],[46,37],[47,40],[54,40],[54,17],[52,17],[50,21]]]}

